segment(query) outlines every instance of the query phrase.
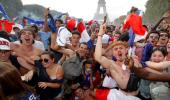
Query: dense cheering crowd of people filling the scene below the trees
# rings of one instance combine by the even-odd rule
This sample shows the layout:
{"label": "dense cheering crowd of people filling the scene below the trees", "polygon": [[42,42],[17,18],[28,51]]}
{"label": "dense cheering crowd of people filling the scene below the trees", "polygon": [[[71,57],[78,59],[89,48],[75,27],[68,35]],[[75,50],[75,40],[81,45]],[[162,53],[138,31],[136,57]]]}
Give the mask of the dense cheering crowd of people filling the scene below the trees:
{"label": "dense cheering crowd of people filling the scene below the trees", "polygon": [[[137,13],[132,8],[130,13]],[[169,100],[170,20],[134,42],[123,26],[85,24],[92,46],[61,19],[0,31],[0,100]]]}

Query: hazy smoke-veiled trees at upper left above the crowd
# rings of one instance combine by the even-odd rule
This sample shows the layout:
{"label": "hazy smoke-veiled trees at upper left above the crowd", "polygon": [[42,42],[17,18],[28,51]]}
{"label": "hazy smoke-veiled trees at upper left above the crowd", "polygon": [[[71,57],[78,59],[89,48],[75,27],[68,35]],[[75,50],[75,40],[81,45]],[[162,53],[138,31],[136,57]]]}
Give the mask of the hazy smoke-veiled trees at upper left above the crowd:
{"label": "hazy smoke-veiled trees at upper left above the crowd", "polygon": [[[4,6],[7,15],[10,18],[19,16],[30,16],[32,18],[43,18],[45,8],[40,5],[23,5],[21,0],[0,0],[0,3]],[[55,10],[51,11],[52,15],[60,15],[61,13]],[[0,15],[1,16],[1,15]]]}

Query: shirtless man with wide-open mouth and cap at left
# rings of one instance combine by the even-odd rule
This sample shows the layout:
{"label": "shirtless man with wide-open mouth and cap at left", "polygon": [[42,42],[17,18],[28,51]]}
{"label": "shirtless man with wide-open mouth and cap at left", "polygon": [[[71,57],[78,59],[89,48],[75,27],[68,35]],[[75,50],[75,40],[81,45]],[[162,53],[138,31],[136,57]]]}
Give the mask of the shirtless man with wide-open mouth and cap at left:
{"label": "shirtless man with wide-open mouth and cap at left", "polygon": [[[34,68],[34,57],[41,54],[41,50],[33,46],[34,32],[27,27],[20,31],[20,45],[13,45],[13,54],[17,56],[18,62],[22,65],[21,74],[25,74],[28,70]],[[23,70],[22,70],[23,69]]]}

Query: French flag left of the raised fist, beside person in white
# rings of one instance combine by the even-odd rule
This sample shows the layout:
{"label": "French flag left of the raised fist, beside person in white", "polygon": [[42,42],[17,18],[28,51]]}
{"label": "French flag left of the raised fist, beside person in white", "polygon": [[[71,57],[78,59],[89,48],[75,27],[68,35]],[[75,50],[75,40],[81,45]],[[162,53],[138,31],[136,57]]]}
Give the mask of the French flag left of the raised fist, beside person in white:
{"label": "French flag left of the raised fist, beside person in white", "polygon": [[81,34],[80,42],[86,42],[88,44],[88,48],[93,48],[93,42],[90,39],[90,36],[86,30],[85,24],[81,19],[78,19],[78,20],[70,19],[67,22],[67,28],[70,31],[73,31],[74,28],[77,28],[77,31],[80,32]]}

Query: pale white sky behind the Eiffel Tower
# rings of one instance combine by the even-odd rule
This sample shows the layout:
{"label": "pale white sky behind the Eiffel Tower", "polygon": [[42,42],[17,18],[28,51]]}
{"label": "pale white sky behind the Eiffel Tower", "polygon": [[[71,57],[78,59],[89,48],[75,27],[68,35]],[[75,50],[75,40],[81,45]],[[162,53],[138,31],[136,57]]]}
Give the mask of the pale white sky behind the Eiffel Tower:
{"label": "pale white sky behind the Eiffel Tower", "polygon": [[[145,11],[147,0],[105,0],[109,19],[113,21],[121,15],[126,15],[132,6]],[[50,7],[70,16],[92,20],[97,11],[98,0],[22,0],[23,4],[39,4]]]}

